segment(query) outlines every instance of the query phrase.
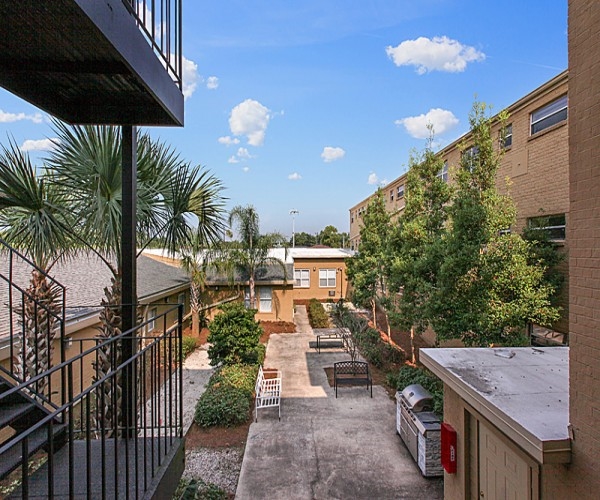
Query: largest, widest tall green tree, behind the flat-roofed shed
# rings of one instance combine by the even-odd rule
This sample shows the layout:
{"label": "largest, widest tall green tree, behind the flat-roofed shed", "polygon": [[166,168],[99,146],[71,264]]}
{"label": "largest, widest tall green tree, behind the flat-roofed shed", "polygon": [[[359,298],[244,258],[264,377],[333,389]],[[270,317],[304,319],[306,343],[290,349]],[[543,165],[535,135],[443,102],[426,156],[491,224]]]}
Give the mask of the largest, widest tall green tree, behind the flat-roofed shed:
{"label": "largest, widest tall green tree, behind the flat-roofed shed", "polygon": [[544,281],[545,268],[531,264],[531,245],[507,234],[516,209],[510,195],[496,189],[502,151],[494,147],[485,104],[475,103],[470,125],[472,145],[463,148],[455,172],[430,320],[438,340],[519,344],[527,322],[547,325],[558,318],[558,309],[550,303],[553,290]]}

